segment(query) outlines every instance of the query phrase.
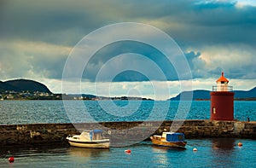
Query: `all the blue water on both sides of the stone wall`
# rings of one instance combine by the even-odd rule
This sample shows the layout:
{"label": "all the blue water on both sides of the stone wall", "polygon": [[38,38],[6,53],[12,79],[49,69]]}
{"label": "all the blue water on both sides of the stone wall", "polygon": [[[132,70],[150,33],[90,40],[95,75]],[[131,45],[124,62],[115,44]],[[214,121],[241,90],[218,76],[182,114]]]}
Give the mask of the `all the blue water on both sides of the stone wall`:
{"label": "all the blue water on both sides of the stone wall", "polygon": [[[119,111],[112,108],[111,102],[104,101],[108,111],[97,101],[83,101],[84,107],[76,106],[77,102],[69,101],[74,105],[71,106],[72,118],[78,122],[150,120],[151,113],[155,120],[172,120],[179,107],[178,101],[171,101],[163,113],[166,109],[161,105],[166,101],[114,101],[117,107],[123,107]],[[155,103],[160,106],[152,110]],[[128,104],[137,110],[129,112],[125,108]],[[186,119],[209,119],[209,108],[210,101],[192,101]],[[256,101],[235,101],[235,119],[255,121],[255,109]],[[62,101],[0,101],[0,125],[70,123],[73,119],[66,110]],[[184,149],[160,148],[151,142],[109,149],[73,148],[68,144],[1,146],[0,167],[256,167],[255,140],[206,138],[187,139],[187,142]],[[238,142],[243,145],[238,147]],[[131,149],[131,154],[125,154],[126,149]],[[9,156],[15,157],[14,163],[9,163]]]}

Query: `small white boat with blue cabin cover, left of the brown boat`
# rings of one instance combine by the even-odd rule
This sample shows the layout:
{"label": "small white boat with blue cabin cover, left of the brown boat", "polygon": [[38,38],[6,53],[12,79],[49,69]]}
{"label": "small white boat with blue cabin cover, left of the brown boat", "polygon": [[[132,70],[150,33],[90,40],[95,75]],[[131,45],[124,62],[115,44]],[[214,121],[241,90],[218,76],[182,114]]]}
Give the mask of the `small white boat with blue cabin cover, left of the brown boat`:
{"label": "small white boat with blue cabin cover, left of the brown boat", "polygon": [[82,148],[109,148],[109,139],[102,136],[102,130],[84,130],[80,135],[67,136],[70,146]]}

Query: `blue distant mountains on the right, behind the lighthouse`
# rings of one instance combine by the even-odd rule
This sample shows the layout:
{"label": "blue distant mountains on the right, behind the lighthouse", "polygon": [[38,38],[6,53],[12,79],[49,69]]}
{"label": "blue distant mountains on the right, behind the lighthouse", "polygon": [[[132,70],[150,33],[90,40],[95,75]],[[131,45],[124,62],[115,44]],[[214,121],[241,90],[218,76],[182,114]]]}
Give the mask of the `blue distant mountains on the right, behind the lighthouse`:
{"label": "blue distant mountains on the right, behind the lighthouse", "polygon": [[[178,94],[175,97],[170,98],[169,100],[171,101],[179,101],[180,100],[180,96],[183,96],[183,100],[184,101],[188,101],[189,97],[191,96],[191,94],[193,94],[193,99],[192,100],[210,100],[211,96],[210,96],[210,92],[209,90],[193,90],[193,91],[183,91],[182,93]],[[243,100],[250,100],[253,98],[256,98],[256,87],[254,87],[252,90],[234,90],[235,92],[235,96],[234,98],[236,100],[239,99],[243,99]]]}

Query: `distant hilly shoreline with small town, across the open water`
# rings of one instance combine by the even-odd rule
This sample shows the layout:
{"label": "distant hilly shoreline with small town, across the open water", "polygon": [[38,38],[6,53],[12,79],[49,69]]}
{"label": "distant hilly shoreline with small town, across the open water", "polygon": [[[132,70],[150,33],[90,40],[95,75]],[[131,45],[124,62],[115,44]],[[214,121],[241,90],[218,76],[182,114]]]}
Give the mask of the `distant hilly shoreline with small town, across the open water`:
{"label": "distant hilly shoreline with small town, across the open water", "polygon": [[[179,101],[193,95],[193,101],[210,101],[210,90],[183,91],[168,100]],[[256,101],[256,87],[251,90],[233,90],[235,101]],[[91,94],[61,94],[52,93],[46,85],[29,79],[0,81],[0,100],[84,100],[84,101],[154,101],[150,98],[132,96],[95,96]],[[185,100],[184,100],[185,101]],[[189,100],[188,100],[189,101]]]}

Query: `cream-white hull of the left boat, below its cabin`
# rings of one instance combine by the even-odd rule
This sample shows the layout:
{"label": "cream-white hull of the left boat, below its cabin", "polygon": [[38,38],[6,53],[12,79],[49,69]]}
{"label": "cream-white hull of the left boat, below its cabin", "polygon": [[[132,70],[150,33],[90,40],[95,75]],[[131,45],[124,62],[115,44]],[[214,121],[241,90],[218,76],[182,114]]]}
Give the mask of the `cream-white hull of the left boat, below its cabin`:
{"label": "cream-white hull of the left boat, below its cabin", "polygon": [[97,142],[82,142],[82,141],[73,141],[67,140],[72,147],[79,148],[109,148],[110,142],[106,141],[97,141]]}

